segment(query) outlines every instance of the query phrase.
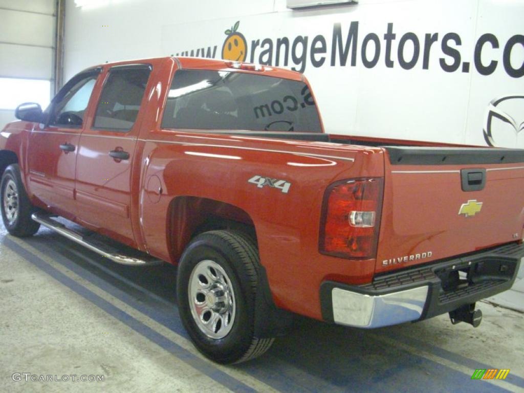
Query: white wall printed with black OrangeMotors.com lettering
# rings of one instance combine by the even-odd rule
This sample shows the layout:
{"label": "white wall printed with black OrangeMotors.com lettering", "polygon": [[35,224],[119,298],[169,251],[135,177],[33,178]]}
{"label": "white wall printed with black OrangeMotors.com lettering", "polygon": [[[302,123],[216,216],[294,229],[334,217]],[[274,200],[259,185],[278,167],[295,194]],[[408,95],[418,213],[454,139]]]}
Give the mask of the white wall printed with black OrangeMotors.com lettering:
{"label": "white wall printed with black OrangeMotors.com lettering", "polygon": [[[286,65],[303,70],[311,81],[328,132],[486,145],[483,129],[490,101],[507,95],[524,97],[524,0],[361,0],[355,6],[300,11],[288,10],[283,0],[93,2],[97,6],[77,7],[73,0],[67,3],[66,77],[105,61],[191,54],[191,50],[196,54],[199,48],[206,52],[216,47],[215,57],[220,58],[224,30],[239,21],[247,60],[267,63],[271,52],[270,63],[275,64],[277,40],[289,39],[296,57],[293,61],[289,53]],[[341,64],[336,45],[332,51],[336,27],[340,24],[340,40],[345,45],[356,22],[358,38],[351,44],[346,64]],[[392,67],[386,64],[384,37],[390,23],[396,35],[390,40]],[[483,66],[497,62],[488,75],[482,74],[482,65],[474,59],[475,48],[481,47],[479,38],[485,34],[498,41],[498,48],[488,42],[480,52]],[[312,55],[312,43],[318,36]],[[415,52],[413,40],[419,41],[419,58],[413,66],[400,64],[402,37],[406,43],[400,56],[408,63]],[[426,40],[431,37],[436,42],[430,46]],[[363,56],[373,59],[373,39],[380,45],[379,57],[376,64],[366,67]],[[369,42],[363,54],[365,40]],[[517,42],[511,50],[508,47],[509,63],[505,65],[509,40]],[[427,67],[425,47],[430,49],[425,56]],[[460,59],[449,70],[454,56]],[[321,66],[313,66],[313,61],[322,59]],[[524,121],[524,99],[506,101],[500,108],[518,124]],[[494,118],[492,131],[497,145],[524,147],[524,132],[517,134],[510,124]]]}

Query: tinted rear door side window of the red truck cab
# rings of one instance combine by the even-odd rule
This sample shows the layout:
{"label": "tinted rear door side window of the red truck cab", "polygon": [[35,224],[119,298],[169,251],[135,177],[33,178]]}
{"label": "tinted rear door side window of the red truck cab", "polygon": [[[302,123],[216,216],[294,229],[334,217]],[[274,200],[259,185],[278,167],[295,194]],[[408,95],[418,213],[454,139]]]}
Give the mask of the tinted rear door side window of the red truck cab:
{"label": "tinted rear door side window of the red truck cab", "polygon": [[94,127],[129,131],[138,116],[150,72],[148,65],[111,69],[96,109]]}

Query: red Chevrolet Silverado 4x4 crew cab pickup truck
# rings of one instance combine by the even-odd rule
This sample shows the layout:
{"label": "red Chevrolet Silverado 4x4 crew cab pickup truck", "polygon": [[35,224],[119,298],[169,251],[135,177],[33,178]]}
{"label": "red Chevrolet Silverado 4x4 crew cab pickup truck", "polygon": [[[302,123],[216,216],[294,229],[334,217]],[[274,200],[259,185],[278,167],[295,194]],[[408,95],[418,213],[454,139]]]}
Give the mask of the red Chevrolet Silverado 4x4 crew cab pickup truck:
{"label": "red Chevrolet Silverado 4x4 crew cab pickup truck", "polygon": [[293,313],[476,326],[524,256],[524,150],[324,133],[297,72],[102,64],[16,116],[0,133],[9,233],[42,224],[117,263],[178,265],[182,322],[216,362],[264,353]]}

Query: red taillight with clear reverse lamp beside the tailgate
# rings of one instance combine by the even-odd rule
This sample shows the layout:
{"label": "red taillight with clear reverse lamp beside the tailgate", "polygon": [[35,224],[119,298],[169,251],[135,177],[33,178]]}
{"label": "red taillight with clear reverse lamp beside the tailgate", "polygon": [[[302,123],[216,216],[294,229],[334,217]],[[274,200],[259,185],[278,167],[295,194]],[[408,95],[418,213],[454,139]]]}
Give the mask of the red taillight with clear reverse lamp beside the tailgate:
{"label": "red taillight with clear reverse lamp beside the tailgate", "polygon": [[383,179],[350,179],[324,194],[319,250],[342,258],[376,258]]}

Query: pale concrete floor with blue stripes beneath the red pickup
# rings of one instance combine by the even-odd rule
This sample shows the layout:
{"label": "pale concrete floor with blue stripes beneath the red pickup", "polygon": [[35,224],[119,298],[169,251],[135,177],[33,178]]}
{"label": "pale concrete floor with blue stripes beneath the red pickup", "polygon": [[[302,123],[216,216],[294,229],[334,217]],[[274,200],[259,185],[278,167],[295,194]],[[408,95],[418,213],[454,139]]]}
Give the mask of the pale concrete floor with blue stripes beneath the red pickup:
{"label": "pale concrete floor with blue stripes beneath the red pickup", "polygon": [[[524,392],[519,312],[479,303],[477,329],[447,315],[373,331],[299,318],[265,356],[223,367],[182,328],[174,268],[118,266],[45,229],[17,239],[0,227],[1,391]],[[511,371],[472,380],[476,368]]]}

